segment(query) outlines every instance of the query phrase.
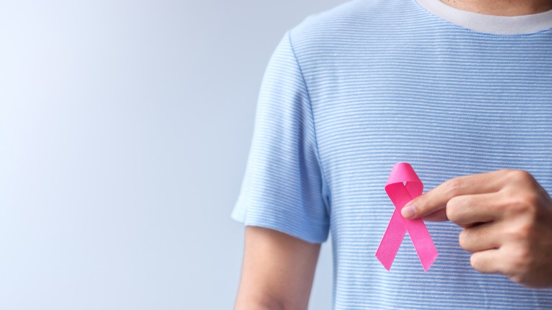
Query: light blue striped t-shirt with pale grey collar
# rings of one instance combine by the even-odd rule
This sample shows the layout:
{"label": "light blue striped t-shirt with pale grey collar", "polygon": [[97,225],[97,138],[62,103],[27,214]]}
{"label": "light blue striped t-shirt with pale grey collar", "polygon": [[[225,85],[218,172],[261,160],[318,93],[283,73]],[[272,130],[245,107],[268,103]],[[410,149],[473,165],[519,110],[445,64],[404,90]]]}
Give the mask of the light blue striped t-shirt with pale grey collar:
{"label": "light blue striped t-shirt with pale grey collar", "polygon": [[331,232],[334,309],[552,309],[471,268],[461,229],[427,222],[424,272],[407,236],[374,253],[393,213],[391,167],[426,190],[516,168],[552,192],[552,11],[485,16],[437,0],[352,1],[290,30],[268,64],[232,217],[312,243]]}

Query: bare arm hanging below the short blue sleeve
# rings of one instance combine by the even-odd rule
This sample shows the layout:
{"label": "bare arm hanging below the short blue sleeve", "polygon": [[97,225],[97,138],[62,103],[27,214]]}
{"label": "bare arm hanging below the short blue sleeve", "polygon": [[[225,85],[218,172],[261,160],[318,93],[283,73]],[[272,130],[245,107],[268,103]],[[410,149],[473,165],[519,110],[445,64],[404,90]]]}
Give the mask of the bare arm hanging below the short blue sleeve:
{"label": "bare arm hanging below the short blue sleeve", "polygon": [[320,244],[246,227],[236,310],[307,309]]}

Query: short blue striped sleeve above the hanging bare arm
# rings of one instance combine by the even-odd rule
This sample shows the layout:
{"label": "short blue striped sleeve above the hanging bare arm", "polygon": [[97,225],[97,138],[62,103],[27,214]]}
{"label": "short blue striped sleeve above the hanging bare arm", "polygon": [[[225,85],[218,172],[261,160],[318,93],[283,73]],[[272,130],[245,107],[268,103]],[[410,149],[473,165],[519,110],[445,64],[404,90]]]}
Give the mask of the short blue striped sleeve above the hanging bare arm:
{"label": "short blue striped sleeve above the hanging bare arm", "polygon": [[268,63],[232,217],[311,243],[328,238],[328,199],[309,93],[289,33]]}

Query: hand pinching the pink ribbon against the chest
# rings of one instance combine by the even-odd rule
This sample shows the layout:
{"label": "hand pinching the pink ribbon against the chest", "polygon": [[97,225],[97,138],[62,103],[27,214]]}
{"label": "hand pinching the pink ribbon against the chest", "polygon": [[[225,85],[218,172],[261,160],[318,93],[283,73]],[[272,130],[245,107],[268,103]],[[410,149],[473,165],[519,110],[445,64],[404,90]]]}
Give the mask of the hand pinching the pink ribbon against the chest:
{"label": "hand pinching the pink ribbon against the chest", "polygon": [[552,199],[531,174],[501,170],[453,178],[403,207],[404,217],[449,219],[471,265],[528,287],[552,287]]}

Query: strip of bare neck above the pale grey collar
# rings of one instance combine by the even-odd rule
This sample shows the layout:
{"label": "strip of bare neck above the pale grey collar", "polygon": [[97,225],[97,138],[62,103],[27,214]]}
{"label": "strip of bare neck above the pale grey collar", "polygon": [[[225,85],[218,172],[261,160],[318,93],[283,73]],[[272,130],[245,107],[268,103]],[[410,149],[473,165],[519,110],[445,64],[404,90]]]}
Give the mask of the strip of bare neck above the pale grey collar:
{"label": "strip of bare neck above the pale grey collar", "polygon": [[521,16],[552,10],[550,0],[441,0],[444,4],[486,15]]}

